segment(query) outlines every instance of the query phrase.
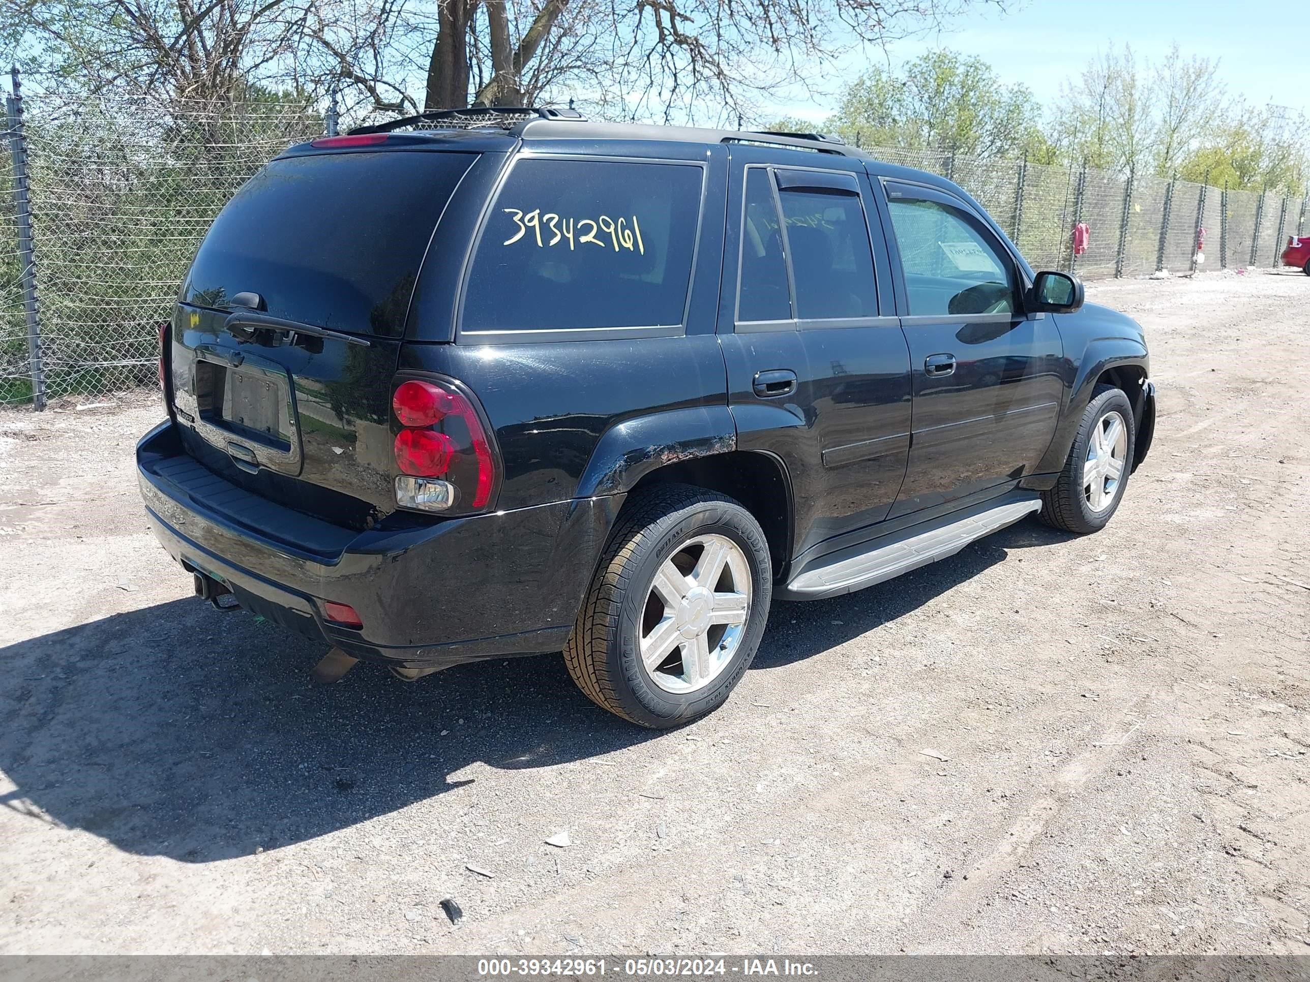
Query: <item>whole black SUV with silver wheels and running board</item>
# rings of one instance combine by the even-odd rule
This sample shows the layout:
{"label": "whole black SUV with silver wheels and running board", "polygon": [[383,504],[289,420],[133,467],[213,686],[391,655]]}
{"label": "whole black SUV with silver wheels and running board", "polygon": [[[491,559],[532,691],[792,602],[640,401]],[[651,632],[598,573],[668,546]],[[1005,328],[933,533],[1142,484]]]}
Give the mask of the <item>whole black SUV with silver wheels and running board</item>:
{"label": "whole black SUV with silver wheels and running board", "polygon": [[950,181],[806,135],[417,128],[448,119],[292,147],[195,257],[138,466],[216,604],[402,678],[563,649],[669,727],[773,597],[1031,512],[1095,532],[1146,454],[1141,329]]}

